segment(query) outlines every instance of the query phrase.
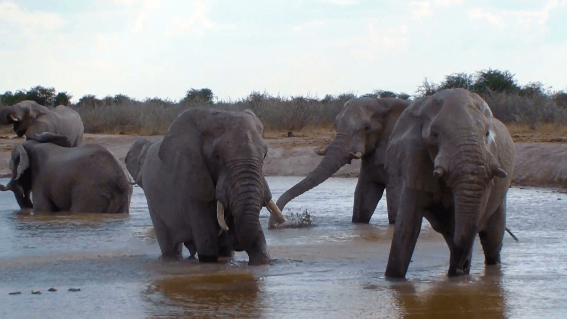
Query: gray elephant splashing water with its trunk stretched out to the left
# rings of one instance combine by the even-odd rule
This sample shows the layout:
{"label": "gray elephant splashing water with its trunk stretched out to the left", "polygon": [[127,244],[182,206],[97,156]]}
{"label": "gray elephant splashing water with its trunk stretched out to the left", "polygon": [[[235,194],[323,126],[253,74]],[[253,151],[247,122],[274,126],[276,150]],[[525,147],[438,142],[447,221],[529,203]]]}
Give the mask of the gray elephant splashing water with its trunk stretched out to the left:
{"label": "gray elephant splashing water with its trunk stretched out to the left", "polygon": [[386,189],[388,222],[395,223],[397,194],[390,189],[396,179],[388,181],[384,158],[392,129],[409,103],[397,98],[348,100],[335,119],[335,140],[325,149],[315,150],[323,159],[306,178],[280,196],[278,207],[284,209],[290,200],[323,183],[352,159],[362,158],[354,190],[352,222],[368,224]]}

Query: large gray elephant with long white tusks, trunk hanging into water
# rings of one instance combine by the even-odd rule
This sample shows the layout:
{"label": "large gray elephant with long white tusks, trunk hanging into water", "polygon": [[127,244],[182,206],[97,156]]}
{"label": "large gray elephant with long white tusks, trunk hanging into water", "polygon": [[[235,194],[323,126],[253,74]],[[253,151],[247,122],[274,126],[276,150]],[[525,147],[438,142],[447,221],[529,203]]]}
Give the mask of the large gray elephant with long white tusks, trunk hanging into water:
{"label": "large gray elephant with long white tusks, trunk hanging into water", "polygon": [[285,217],[263,175],[268,145],[252,111],[189,108],[162,141],[138,138],[126,167],[146,195],[162,255],[179,257],[183,244],[200,262],[246,251],[248,265],[269,262],[260,209],[270,224]]}

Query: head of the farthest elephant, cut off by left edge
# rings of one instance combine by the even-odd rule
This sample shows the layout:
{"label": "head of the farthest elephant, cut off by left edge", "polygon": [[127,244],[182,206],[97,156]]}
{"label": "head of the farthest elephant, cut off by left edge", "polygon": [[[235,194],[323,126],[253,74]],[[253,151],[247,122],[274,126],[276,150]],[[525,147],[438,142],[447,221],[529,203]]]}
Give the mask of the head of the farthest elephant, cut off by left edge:
{"label": "head of the farthest elephant, cut off by left edge", "polygon": [[0,124],[14,124],[14,132],[18,137],[24,136],[27,129],[38,116],[46,114],[49,109],[32,100],[25,100],[0,110]]}

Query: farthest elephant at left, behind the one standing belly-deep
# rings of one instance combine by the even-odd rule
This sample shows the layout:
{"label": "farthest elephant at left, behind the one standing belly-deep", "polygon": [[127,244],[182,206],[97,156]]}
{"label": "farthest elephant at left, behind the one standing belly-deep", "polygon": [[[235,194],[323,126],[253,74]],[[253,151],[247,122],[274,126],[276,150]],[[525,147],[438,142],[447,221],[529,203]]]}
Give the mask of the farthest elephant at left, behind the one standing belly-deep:
{"label": "farthest elephant at left, behind the one standing belly-deep", "polygon": [[14,124],[16,135],[26,135],[26,140],[43,132],[66,136],[71,147],[81,146],[83,140],[84,126],[81,116],[64,105],[49,110],[35,101],[24,100],[0,109],[0,124]]}

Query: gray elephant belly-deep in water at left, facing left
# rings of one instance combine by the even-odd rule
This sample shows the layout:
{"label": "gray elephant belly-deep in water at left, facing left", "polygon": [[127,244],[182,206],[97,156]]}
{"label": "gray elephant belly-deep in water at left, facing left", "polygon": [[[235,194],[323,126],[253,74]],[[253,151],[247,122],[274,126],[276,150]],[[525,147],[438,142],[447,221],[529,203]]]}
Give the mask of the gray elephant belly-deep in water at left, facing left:
{"label": "gray elephant belly-deep in water at left, facing left", "polygon": [[[69,138],[43,132],[12,150],[12,178],[20,208],[39,212],[129,213],[133,182],[107,148],[71,148]],[[33,193],[33,202],[29,197]]]}

